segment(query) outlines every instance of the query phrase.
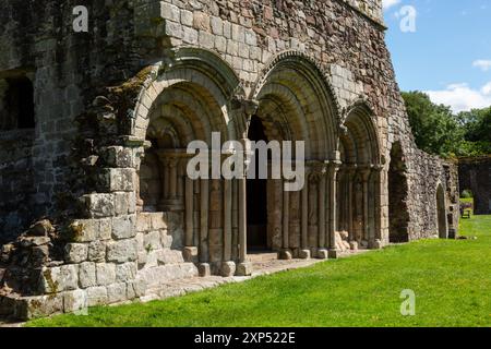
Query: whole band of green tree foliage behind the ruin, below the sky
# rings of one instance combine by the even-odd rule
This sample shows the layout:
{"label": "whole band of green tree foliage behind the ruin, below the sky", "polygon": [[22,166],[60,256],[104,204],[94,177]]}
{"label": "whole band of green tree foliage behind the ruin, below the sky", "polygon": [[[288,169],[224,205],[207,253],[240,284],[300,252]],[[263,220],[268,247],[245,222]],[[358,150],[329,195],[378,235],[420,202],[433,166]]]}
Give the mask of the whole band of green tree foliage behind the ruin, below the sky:
{"label": "whole band of green tree foliage behind the ruin, below the sky", "polygon": [[491,107],[455,115],[421,92],[403,93],[417,145],[443,157],[491,154]]}

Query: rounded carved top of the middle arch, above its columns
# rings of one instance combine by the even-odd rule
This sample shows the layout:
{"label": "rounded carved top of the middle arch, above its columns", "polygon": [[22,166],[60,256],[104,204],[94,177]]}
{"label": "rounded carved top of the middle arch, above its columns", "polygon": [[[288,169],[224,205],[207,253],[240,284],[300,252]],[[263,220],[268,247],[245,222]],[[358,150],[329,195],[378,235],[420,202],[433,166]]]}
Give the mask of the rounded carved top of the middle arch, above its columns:
{"label": "rounded carved top of the middle arch, above its columns", "polygon": [[307,141],[308,159],[332,159],[336,151],[339,105],[321,65],[302,52],[272,60],[252,98],[272,140]]}

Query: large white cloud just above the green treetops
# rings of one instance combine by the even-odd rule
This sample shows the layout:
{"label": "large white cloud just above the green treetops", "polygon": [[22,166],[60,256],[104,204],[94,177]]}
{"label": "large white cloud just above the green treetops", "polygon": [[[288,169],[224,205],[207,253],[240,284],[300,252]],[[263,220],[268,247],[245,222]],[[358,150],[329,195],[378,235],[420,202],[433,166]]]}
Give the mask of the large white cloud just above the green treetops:
{"label": "large white cloud just above the green treetops", "polygon": [[472,89],[468,84],[452,84],[442,91],[427,91],[435,104],[451,106],[454,112],[491,106],[491,82],[480,89]]}

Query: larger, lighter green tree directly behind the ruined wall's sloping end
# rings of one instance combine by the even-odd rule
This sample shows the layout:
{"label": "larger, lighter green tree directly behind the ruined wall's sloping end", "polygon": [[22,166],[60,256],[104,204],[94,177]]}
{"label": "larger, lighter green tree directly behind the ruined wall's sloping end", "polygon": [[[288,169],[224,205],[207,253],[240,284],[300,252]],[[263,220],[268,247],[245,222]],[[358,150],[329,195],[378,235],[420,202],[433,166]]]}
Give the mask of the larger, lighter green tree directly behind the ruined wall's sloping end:
{"label": "larger, lighter green tree directly behind the ruined wall's sloping end", "polygon": [[463,122],[450,107],[435,105],[421,92],[403,93],[409,123],[419,148],[444,157],[463,156]]}

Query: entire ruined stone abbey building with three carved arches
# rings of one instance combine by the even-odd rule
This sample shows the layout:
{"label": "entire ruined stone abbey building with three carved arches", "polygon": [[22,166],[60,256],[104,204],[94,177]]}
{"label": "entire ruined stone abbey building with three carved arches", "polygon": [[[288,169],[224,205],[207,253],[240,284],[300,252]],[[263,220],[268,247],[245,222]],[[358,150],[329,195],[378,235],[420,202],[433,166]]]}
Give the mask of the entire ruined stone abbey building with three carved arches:
{"label": "entire ruined stone abbey building with three carved arches", "polygon": [[[0,315],[455,237],[457,166],[417,148],[385,29],[381,0],[3,0]],[[307,184],[190,180],[212,132],[306,141]]]}

